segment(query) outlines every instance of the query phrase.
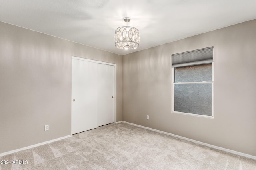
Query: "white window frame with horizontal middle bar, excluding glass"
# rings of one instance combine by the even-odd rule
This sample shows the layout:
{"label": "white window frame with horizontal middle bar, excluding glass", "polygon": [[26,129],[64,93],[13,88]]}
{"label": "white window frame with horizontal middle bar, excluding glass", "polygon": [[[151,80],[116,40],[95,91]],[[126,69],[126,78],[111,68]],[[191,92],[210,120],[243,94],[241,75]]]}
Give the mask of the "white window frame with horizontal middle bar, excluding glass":
{"label": "white window frame with horizontal middle bar, excluding glass", "polygon": [[[202,81],[202,82],[176,82],[175,78],[175,67],[172,68],[172,113],[178,113],[183,115],[197,116],[197,117],[206,117],[214,119],[214,64],[212,62],[212,81]],[[174,111],[174,84],[199,84],[199,83],[212,83],[212,116],[200,115],[196,113],[185,113],[180,111]]]}

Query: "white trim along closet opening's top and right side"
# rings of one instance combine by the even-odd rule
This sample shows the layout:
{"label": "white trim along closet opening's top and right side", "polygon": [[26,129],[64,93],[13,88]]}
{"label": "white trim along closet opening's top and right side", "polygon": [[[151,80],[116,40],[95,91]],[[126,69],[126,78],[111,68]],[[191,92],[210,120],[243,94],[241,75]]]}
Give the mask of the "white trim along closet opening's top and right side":
{"label": "white trim along closet opening's top and right side", "polygon": [[[75,57],[75,56],[72,56],[71,59],[77,59],[77,60],[82,60],[82,61],[89,61],[89,62],[114,66],[114,123],[116,123],[116,64],[92,60],[92,59],[85,59],[85,58]],[[71,97],[71,102],[72,102],[72,97]]]}

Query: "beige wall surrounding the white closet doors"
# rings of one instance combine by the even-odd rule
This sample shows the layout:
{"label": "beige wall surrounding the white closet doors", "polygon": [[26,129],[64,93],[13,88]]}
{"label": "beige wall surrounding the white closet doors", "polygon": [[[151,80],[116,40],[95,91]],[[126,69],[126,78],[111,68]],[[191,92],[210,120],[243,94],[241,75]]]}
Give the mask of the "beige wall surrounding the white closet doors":
{"label": "beige wall surrounding the white closet doors", "polygon": [[0,22],[0,153],[71,134],[71,56],[116,64],[122,120],[122,56]]}

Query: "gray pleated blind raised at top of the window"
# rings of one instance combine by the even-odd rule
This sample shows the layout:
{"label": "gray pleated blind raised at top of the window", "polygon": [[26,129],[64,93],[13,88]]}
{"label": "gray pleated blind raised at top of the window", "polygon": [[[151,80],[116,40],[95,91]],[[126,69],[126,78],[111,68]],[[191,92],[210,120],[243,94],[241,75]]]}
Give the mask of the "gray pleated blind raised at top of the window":
{"label": "gray pleated blind raised at top of the window", "polygon": [[213,62],[213,47],[172,55],[172,67],[184,67]]}

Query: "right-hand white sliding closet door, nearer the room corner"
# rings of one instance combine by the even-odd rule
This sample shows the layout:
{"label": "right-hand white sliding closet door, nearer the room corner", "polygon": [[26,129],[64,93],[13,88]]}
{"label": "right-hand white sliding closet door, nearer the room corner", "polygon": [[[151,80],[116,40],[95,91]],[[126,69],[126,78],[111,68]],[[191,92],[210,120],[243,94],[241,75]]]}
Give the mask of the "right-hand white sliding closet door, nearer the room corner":
{"label": "right-hand white sliding closet door, nearer the room corner", "polygon": [[98,64],[98,126],[113,122],[114,66]]}

